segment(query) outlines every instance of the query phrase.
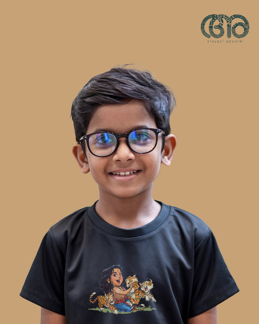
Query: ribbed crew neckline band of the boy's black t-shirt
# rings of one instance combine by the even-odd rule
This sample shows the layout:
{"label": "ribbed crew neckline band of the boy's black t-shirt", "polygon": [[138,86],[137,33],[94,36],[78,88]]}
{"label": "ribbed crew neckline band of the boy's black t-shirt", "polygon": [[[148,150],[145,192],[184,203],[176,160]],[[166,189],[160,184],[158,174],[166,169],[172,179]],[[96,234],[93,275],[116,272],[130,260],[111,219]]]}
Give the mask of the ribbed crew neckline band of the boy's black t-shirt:
{"label": "ribbed crew neckline band of the boy's black t-shirt", "polygon": [[88,216],[99,229],[101,229],[107,234],[113,236],[119,236],[119,237],[139,237],[154,232],[158,227],[160,227],[165,222],[165,220],[169,216],[171,207],[165,205],[160,201],[157,202],[161,205],[161,210],[159,214],[155,217],[155,219],[146,225],[134,229],[127,230],[107,223],[103,218],[101,218],[96,213],[95,210],[96,202],[91,207],[88,208]]}

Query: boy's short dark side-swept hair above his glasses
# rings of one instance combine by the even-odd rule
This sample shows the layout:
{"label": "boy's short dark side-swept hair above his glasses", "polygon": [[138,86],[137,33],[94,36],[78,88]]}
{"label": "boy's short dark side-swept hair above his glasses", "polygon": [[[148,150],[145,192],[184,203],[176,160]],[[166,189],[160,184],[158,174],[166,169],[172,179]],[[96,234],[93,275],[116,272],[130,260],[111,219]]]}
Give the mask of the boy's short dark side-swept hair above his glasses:
{"label": "boy's short dark side-swept hair above his glasses", "polygon": [[170,115],[175,106],[173,92],[155,80],[149,71],[122,67],[92,77],[75,97],[71,116],[76,141],[86,135],[95,110],[104,105],[126,104],[131,99],[143,102],[156,126],[170,133]]}

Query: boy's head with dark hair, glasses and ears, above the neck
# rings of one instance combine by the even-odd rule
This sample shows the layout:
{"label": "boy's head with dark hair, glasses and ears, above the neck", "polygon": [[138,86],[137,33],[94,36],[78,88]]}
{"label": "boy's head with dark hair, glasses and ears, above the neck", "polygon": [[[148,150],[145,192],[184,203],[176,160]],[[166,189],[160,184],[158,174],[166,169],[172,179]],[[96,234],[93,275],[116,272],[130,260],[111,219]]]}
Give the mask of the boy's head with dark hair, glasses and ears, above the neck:
{"label": "boy's head with dark hair, glasses and ears, above the neck", "polygon": [[173,105],[171,91],[149,72],[125,68],[93,77],[79,92],[73,155],[83,173],[91,172],[100,197],[151,195],[161,163],[173,158]]}

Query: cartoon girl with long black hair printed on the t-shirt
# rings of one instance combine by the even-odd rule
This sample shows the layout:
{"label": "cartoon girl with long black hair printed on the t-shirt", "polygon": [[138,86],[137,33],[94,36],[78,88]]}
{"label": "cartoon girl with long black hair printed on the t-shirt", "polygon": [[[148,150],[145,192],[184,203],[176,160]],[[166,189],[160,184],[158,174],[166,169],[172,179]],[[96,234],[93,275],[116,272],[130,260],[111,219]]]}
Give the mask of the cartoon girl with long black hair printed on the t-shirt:
{"label": "cartoon girl with long black hair printed on the t-shirt", "polygon": [[123,282],[121,270],[122,268],[120,265],[113,265],[103,270],[99,286],[105,292],[113,292],[115,306],[119,312],[131,312],[131,303],[127,297],[127,294],[131,291],[132,287],[128,289],[121,287]]}

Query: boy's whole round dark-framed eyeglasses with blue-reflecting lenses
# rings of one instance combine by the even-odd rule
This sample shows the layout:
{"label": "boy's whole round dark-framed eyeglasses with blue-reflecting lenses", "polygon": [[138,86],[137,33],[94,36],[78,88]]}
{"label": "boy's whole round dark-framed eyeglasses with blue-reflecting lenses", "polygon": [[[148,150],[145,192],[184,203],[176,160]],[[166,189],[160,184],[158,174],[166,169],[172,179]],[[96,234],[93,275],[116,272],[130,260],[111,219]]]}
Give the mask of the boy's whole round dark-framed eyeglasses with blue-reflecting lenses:
{"label": "boy's whole round dark-framed eyeglasses with blue-reflecting lenses", "polygon": [[[98,157],[112,155],[120,144],[120,138],[125,137],[128,147],[138,154],[149,153],[154,150],[159,134],[165,135],[161,129],[138,128],[124,134],[100,131],[82,136],[79,143],[85,151],[85,143],[89,151]],[[164,146],[164,136],[163,145]]]}

